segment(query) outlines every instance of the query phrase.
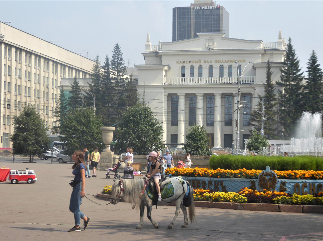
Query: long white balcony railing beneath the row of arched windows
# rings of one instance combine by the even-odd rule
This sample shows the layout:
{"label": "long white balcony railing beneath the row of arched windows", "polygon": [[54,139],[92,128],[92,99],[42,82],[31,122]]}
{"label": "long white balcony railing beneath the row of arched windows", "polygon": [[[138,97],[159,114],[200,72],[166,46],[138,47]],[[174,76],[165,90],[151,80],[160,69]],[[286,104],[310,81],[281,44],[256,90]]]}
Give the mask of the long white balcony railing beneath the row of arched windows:
{"label": "long white balcony railing beneath the row of arched windows", "polygon": [[[163,84],[237,84],[239,77],[167,77],[163,78]],[[252,84],[256,76],[242,76],[241,84]]]}

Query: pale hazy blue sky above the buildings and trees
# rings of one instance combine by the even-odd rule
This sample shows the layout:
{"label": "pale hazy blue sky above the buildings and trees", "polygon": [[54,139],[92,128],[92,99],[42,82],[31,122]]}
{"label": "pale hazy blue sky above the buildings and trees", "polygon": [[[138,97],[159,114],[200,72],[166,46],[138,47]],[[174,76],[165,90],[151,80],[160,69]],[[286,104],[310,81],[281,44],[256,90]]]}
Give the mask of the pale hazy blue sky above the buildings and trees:
{"label": "pale hazy blue sky above the buildings and trees", "polygon": [[[126,65],[143,64],[147,32],[151,43],[172,41],[172,8],[192,1],[1,1],[0,21],[94,59],[119,43]],[[230,37],[276,42],[292,38],[300,67],[314,50],[323,66],[323,1],[216,1],[230,14]],[[304,73],[306,74],[306,73]]]}

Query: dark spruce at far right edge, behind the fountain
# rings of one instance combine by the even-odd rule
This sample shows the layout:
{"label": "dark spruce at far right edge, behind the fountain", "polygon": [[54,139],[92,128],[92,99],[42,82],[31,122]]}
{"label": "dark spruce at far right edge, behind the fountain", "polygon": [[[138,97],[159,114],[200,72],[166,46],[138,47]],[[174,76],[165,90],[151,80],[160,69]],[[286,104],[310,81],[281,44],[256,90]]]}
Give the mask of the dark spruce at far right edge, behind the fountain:
{"label": "dark spruce at far right edge, behind the fountain", "polygon": [[303,86],[303,109],[312,113],[323,110],[323,73],[314,50],[307,62],[306,84]]}

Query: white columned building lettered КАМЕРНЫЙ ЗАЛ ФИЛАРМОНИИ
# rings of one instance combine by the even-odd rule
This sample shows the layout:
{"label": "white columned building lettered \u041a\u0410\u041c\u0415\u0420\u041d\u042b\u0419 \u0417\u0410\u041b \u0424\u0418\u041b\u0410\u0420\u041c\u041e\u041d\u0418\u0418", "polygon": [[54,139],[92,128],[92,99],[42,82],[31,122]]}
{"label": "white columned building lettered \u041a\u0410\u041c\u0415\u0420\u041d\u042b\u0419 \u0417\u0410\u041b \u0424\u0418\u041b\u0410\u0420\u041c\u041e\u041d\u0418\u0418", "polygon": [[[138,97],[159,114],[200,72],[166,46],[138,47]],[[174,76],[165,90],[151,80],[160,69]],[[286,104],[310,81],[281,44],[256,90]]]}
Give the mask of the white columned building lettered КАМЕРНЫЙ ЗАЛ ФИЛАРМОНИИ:
{"label": "white columned building lettered \u041a\u0410\u041c\u0415\u0420\u041d\u042b\u0419 \u0417\u0410\u041b \u0424\u0418\u041b\u0410\u0420\u041c\u041e\u041d\u0418\u0418", "polygon": [[[223,33],[200,33],[197,38],[152,45],[147,34],[145,64],[137,65],[141,101],[148,103],[164,128],[164,143],[181,148],[187,129],[202,124],[210,147],[222,149],[235,143],[238,82],[241,100],[239,148],[248,139],[250,111],[263,96],[266,64],[272,82],[280,79],[286,41],[226,38]],[[251,63],[249,63],[251,62]],[[266,129],[265,129],[266,131]],[[174,145],[171,145],[174,144]]]}

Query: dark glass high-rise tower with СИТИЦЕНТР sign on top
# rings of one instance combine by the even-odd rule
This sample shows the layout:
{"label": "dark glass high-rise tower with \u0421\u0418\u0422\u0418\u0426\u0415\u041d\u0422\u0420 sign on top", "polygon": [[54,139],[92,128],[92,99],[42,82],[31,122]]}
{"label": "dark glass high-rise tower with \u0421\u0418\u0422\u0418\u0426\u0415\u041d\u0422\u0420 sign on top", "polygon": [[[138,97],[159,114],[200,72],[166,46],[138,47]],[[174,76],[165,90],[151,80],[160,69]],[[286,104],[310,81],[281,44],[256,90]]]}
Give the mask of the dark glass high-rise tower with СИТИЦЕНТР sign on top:
{"label": "dark glass high-rise tower with \u0421\u0418\u0422\u0418\u0426\u0415\u041d\u0422\u0420 sign on top", "polygon": [[194,0],[190,7],[173,8],[173,40],[196,38],[198,33],[229,37],[229,14],[212,0]]}

